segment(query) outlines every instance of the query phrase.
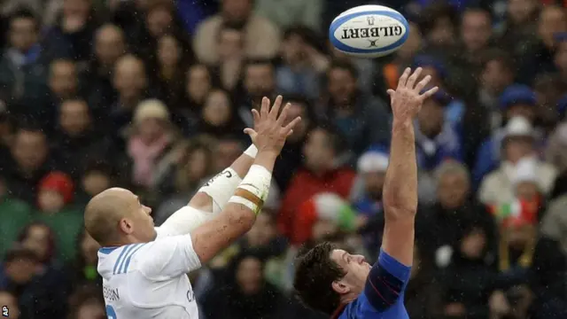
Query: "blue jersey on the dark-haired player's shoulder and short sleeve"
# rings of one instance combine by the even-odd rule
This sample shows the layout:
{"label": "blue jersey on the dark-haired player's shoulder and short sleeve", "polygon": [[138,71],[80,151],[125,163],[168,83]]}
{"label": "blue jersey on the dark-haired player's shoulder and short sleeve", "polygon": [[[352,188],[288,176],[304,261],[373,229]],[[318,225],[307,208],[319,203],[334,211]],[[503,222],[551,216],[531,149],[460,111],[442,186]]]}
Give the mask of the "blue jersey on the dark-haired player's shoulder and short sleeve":
{"label": "blue jersey on the dark-haired player's shoulder and short sleeve", "polygon": [[404,291],[411,268],[380,251],[370,269],[364,291],[356,300],[338,309],[338,319],[409,319]]}

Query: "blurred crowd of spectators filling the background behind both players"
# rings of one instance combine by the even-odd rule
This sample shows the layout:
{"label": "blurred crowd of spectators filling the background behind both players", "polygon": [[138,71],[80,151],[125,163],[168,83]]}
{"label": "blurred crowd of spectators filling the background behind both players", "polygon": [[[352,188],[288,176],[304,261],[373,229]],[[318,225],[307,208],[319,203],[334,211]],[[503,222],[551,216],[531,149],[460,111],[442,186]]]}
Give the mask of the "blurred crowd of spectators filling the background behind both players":
{"label": "blurred crowd of spectators filling the background behind both players", "polygon": [[324,318],[293,298],[293,259],[322,240],[376,258],[385,90],[405,66],[441,88],[416,119],[410,317],[567,318],[567,2],[382,1],[410,21],[400,51],[334,51],[330,20],[369,3],[1,2],[0,305],[11,318],[105,318],[89,198],[135,190],[159,225],[243,152],[250,110],[276,94],[304,120],[264,212],[189,276],[206,319]]}

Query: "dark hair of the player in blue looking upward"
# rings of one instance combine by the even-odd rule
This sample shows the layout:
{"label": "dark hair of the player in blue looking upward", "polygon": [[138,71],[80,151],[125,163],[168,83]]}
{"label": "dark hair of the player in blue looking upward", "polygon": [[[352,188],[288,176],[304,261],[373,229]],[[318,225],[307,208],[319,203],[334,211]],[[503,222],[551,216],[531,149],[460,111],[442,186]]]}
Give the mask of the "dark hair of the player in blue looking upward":
{"label": "dark hair of the player in blue looking upward", "polygon": [[332,283],[346,275],[330,259],[334,249],[334,245],[322,243],[299,255],[293,281],[295,293],[303,304],[328,315],[340,304],[340,295],[332,289]]}

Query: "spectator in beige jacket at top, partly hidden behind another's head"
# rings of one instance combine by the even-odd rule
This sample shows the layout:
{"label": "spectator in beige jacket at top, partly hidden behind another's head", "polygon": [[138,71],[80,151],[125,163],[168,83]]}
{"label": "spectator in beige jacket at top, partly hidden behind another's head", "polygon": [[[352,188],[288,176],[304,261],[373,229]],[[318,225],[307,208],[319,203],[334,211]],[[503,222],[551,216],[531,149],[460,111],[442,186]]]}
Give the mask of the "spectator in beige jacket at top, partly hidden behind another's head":
{"label": "spectator in beige jacket at top, partly hidden behind another's head", "polygon": [[274,58],[279,50],[280,35],[268,19],[253,12],[252,0],[222,0],[221,12],[205,19],[197,27],[193,48],[199,61],[213,65],[218,62],[215,35],[223,23],[239,26],[245,32],[246,58]]}

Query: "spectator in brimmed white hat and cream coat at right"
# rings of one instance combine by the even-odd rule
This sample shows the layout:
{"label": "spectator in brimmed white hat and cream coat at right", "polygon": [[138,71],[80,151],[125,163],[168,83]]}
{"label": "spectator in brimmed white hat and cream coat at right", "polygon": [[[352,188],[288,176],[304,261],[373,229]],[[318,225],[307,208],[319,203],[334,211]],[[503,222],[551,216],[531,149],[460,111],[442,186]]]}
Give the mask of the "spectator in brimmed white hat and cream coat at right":
{"label": "spectator in brimmed white hat and cream coat at right", "polygon": [[521,159],[533,160],[534,178],[542,194],[547,196],[553,187],[557,171],[555,167],[537,158],[536,135],[532,125],[522,116],[513,117],[506,126],[501,142],[501,166],[486,175],[478,198],[487,205],[509,203],[516,198],[514,181]]}

